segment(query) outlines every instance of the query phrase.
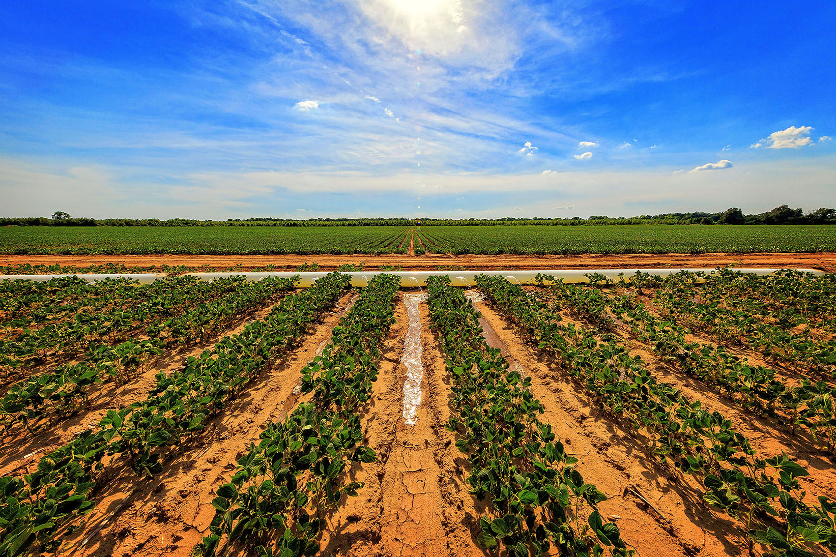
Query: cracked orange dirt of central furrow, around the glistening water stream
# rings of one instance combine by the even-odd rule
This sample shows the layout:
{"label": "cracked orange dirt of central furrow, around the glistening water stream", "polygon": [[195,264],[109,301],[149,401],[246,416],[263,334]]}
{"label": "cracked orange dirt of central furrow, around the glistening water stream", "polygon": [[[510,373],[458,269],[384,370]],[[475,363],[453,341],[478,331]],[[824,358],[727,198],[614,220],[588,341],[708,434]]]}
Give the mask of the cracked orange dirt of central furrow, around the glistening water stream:
{"label": "cracked orange dirt of central furrow, around the glistening water stream", "polygon": [[[402,302],[393,327],[394,350],[385,352],[373,390],[374,403],[363,419],[377,462],[355,464],[353,478],[365,482],[358,498],[334,515],[320,552],[324,555],[484,556],[468,525],[475,524],[472,498],[461,476],[459,452],[444,428],[449,387],[444,360],[428,335],[429,315],[421,304],[424,355],[422,401],[415,427],[403,421],[405,366],[400,362],[406,331]],[[388,344],[388,343],[387,343]]]}

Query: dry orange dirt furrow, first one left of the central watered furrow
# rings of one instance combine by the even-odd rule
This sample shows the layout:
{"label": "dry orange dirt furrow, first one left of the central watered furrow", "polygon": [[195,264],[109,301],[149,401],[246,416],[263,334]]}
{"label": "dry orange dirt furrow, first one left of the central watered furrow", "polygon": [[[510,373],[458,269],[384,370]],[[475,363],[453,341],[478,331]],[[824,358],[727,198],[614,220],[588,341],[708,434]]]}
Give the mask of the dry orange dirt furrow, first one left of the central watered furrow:
{"label": "dry orange dirt furrow, first one left of the central watered furrow", "polygon": [[[340,299],[336,311],[312,327],[310,334],[283,358],[273,362],[237,400],[210,420],[199,437],[185,447],[172,448],[174,459],[164,459],[164,472],[141,481],[127,462],[108,470],[95,495],[93,513],[84,528],[65,536],[63,554],[175,555],[186,557],[206,533],[215,508],[213,490],[227,482],[235,462],[247,452],[268,422],[282,419],[300,371],[347,309],[352,294]],[[94,528],[104,524],[89,544],[79,547]]]}

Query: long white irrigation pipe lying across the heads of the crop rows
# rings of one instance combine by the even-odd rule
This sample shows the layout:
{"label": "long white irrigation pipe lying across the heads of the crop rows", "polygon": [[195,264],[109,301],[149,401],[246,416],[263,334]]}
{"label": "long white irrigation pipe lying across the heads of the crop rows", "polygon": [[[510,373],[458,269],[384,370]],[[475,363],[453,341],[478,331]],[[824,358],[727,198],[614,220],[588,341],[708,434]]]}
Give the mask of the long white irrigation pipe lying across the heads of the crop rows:
{"label": "long white irrigation pipe lying across the heads of the crop rows", "polygon": [[[780,270],[777,268],[735,268],[735,271],[740,271],[741,273],[754,273],[758,275],[767,275],[775,273],[776,271]],[[813,268],[799,268],[795,269],[797,271],[801,271],[803,273],[813,273],[815,275],[823,275],[826,274],[824,271],[820,271],[818,269]],[[351,276],[351,285],[352,286],[366,286],[369,284],[369,281],[379,274],[395,274],[400,277],[400,286],[401,287],[420,287],[426,286],[426,279],[427,277],[437,277],[440,275],[447,275],[450,277],[451,284],[453,286],[473,286],[476,284],[474,280],[480,274],[487,274],[488,276],[502,276],[506,279],[510,280],[511,282],[518,283],[518,284],[534,284],[535,277],[539,273],[549,274],[552,275],[555,279],[563,279],[567,283],[586,283],[589,282],[589,279],[586,278],[586,274],[588,273],[598,273],[603,274],[605,277],[609,277],[609,279],[618,280],[619,274],[623,274],[625,279],[630,279],[630,277],[635,276],[637,271],[641,271],[642,273],[650,273],[653,275],[658,275],[661,277],[668,276],[670,274],[679,273],[680,271],[689,271],[691,273],[696,273],[701,271],[706,274],[716,274],[716,268],[642,268],[642,269],[635,269],[635,268],[584,268],[584,269],[554,269],[554,270],[517,270],[517,271],[355,271],[355,272],[348,272]],[[247,277],[247,280],[260,280],[264,277],[292,277],[293,275],[299,275],[300,282],[299,286],[302,288],[307,288],[314,284],[317,279],[321,279],[324,277],[327,272],[320,271],[318,273],[186,273],[187,275],[191,275],[194,277],[199,277],[203,280],[213,280],[213,279],[223,279],[226,277],[232,277],[235,275],[244,275]],[[152,283],[155,280],[165,279],[168,275],[165,273],[125,273],[125,274],[77,274],[77,275],[69,275],[69,274],[13,274],[13,275],[0,275],[0,281],[2,280],[34,280],[34,281],[46,281],[49,279],[55,279],[59,277],[70,277],[70,276],[77,276],[79,279],[86,280],[90,283],[93,283],[97,280],[104,280],[104,279],[135,279],[140,281],[141,284],[148,284]]]}

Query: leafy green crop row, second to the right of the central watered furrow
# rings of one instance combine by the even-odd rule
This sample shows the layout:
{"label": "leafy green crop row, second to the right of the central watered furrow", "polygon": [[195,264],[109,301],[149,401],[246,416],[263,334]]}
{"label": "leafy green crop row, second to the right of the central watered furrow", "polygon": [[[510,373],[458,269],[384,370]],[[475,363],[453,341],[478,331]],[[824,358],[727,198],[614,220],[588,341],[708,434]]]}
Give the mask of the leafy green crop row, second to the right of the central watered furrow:
{"label": "leafy green crop row, second to the right of the central watered furrow", "polygon": [[612,340],[560,324],[560,315],[501,277],[477,277],[488,299],[577,378],[602,411],[623,419],[650,439],[662,462],[699,478],[703,500],[741,523],[749,546],[773,554],[808,555],[836,549],[836,504],[820,496],[805,502],[798,478],[808,472],[786,454],[759,458],[748,439],[719,412],[701,408],[667,383],[656,381],[644,362]]}

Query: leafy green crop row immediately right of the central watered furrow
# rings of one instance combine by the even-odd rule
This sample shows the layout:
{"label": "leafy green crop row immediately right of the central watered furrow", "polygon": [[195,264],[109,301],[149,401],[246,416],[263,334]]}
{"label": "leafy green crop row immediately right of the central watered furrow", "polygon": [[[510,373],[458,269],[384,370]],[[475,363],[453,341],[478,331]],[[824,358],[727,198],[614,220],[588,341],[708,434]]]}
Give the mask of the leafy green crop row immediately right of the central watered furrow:
{"label": "leafy green crop row immediately right of the central watered furrow", "polygon": [[427,279],[432,327],[437,331],[452,386],[454,416],[448,424],[456,447],[467,455],[467,483],[490,501],[493,519],[480,518],[479,543],[507,554],[631,555],[618,526],[604,524],[596,505],[606,499],[585,483],[557,440],[540,422],[543,405],[531,379],[508,369],[488,347],[479,314],[446,276]]}

